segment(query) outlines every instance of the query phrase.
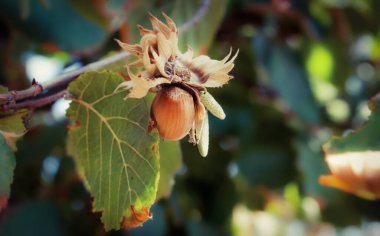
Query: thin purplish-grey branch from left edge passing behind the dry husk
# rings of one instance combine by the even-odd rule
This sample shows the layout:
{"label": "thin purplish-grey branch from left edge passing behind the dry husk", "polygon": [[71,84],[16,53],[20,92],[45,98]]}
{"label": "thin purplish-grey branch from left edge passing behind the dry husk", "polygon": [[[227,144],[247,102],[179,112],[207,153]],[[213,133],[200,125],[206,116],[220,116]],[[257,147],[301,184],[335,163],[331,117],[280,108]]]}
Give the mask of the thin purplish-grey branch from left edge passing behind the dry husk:
{"label": "thin purplish-grey branch from left edge passing behind the dry husk", "polygon": [[[196,26],[201,18],[205,15],[207,10],[210,6],[210,0],[201,0],[198,10],[195,12],[195,14],[182,26],[178,28],[178,31],[180,33],[184,33],[191,29],[192,27]],[[121,60],[125,60],[130,56],[127,52],[120,52],[115,55],[112,55],[110,57],[104,58],[102,60],[90,63],[84,67],[81,67],[77,70],[70,71],[67,73],[64,73],[57,78],[55,78],[53,81],[44,83],[44,84],[38,84],[37,82],[34,82],[31,87],[19,90],[19,91],[10,91],[8,93],[0,94],[0,111],[8,111],[10,109],[21,109],[21,108],[37,108],[41,106],[45,106],[51,102],[54,102],[60,97],[63,97],[66,93],[66,86],[73,80],[75,80],[80,74],[88,72],[88,71],[95,71],[102,68],[105,68],[113,63],[116,63]],[[58,91],[54,93],[53,95],[45,96],[43,98],[37,98],[32,100],[25,100],[17,103],[17,101],[24,100],[31,97],[36,97],[37,95],[41,93],[49,93],[50,89],[53,88],[62,88],[61,91]]]}

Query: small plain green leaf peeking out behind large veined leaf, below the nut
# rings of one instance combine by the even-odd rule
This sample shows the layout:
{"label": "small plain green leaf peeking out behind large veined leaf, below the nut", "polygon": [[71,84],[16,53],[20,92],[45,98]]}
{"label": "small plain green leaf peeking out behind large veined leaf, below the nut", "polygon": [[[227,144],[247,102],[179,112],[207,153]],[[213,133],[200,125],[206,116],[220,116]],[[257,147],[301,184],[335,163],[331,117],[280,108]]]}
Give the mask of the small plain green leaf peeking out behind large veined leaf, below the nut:
{"label": "small plain green leaf peeking out behind large veined leaf, below the nut", "polygon": [[174,183],[174,175],[182,166],[182,153],[179,142],[160,142],[160,181],[157,200],[169,197]]}

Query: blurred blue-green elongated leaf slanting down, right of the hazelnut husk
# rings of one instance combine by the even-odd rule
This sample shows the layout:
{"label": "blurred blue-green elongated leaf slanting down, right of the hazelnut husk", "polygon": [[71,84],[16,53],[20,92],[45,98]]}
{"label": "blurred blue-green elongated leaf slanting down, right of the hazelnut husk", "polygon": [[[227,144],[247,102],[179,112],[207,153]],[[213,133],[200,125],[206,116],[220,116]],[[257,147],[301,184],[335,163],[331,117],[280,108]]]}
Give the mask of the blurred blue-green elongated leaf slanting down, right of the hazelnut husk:
{"label": "blurred blue-green elongated leaf slanting down, right of the hazelnut husk", "polygon": [[259,33],[254,37],[253,47],[258,60],[268,72],[273,88],[289,110],[308,124],[319,124],[321,114],[305,68],[302,67],[295,51],[273,42],[265,33]]}

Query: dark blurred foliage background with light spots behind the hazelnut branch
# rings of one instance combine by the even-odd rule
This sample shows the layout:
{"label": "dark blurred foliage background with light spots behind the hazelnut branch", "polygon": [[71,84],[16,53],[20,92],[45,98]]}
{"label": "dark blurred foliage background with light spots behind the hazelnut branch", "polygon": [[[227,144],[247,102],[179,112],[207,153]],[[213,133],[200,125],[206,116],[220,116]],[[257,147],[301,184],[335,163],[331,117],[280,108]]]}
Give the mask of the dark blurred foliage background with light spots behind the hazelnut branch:
{"label": "dark blurred foliage background with light spots behind the hazelnut branch", "polygon": [[[208,1],[1,0],[0,83],[46,82],[137,42],[137,23],[165,12],[178,25]],[[322,145],[367,120],[380,91],[380,1],[211,0],[180,48],[223,58],[235,77],[209,91],[227,117],[210,117],[210,152],[181,141],[178,169],[153,220],[105,232],[65,150],[64,100],[38,109],[18,142],[0,235],[380,235],[380,201],[318,184]],[[162,19],[162,18],[161,18]],[[380,132],[380,130],[379,130]]]}

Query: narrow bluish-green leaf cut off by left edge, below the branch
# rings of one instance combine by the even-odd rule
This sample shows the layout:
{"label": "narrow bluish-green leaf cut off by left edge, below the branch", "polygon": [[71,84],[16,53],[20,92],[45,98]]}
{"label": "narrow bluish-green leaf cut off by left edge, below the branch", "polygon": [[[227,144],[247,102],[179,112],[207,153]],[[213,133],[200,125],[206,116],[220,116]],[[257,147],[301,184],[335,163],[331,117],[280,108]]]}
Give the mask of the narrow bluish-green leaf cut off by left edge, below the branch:
{"label": "narrow bluish-green leaf cut off by left edge, below the branch", "polygon": [[0,211],[7,205],[15,166],[15,155],[0,135]]}

